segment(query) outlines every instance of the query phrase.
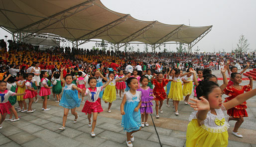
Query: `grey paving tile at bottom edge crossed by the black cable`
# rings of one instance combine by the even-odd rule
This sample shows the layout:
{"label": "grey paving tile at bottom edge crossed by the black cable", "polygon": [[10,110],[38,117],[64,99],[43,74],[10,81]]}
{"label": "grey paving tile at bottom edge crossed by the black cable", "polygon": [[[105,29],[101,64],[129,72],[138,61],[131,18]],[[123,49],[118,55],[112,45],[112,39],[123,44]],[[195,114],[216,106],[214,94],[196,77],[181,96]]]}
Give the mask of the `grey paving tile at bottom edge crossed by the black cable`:
{"label": "grey paving tile at bottom edge crossed by the black cable", "polygon": [[[185,140],[183,139],[169,137],[169,136],[162,136],[162,135],[159,135],[159,137],[160,137],[161,143],[168,146],[183,147],[185,144]],[[159,143],[159,140],[156,134],[151,135],[148,141]]]}

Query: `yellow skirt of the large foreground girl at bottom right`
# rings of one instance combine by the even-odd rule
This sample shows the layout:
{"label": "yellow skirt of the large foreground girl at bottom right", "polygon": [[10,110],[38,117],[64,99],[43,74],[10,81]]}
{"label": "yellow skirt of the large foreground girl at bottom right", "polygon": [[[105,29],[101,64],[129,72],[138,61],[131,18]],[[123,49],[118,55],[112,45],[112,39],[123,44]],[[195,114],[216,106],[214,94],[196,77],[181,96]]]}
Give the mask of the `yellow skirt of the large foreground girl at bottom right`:
{"label": "yellow skirt of the large foreground girl at bottom right", "polygon": [[227,147],[228,131],[212,133],[199,126],[197,119],[192,119],[188,124],[186,147]]}

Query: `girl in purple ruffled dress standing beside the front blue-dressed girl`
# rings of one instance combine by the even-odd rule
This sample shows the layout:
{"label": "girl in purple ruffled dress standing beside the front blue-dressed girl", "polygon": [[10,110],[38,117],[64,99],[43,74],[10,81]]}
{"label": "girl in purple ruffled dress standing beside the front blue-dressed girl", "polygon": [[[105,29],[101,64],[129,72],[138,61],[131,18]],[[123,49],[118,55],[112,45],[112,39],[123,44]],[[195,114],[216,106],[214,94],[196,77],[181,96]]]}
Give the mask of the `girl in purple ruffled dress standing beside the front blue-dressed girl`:
{"label": "girl in purple ruffled dress standing beside the front blue-dressed girl", "polygon": [[142,76],[140,78],[140,83],[142,86],[137,91],[141,92],[141,105],[139,108],[141,113],[141,127],[147,127],[148,114],[153,113],[152,100],[155,98],[155,96],[153,94],[153,90],[147,86],[148,78],[146,76]]}

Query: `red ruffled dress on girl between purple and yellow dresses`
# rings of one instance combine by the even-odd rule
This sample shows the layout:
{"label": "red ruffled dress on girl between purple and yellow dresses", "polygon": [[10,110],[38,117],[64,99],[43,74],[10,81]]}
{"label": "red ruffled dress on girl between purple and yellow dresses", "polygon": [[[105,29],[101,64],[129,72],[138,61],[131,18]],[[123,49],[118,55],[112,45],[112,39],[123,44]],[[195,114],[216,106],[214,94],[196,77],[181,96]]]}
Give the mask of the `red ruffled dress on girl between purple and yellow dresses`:
{"label": "red ruffled dress on girl between purple and yellow dresses", "polygon": [[154,100],[164,100],[166,99],[166,92],[164,87],[168,84],[169,80],[163,79],[161,83],[157,82],[157,80],[153,80],[153,85],[155,85],[153,89],[153,93],[155,95]]}

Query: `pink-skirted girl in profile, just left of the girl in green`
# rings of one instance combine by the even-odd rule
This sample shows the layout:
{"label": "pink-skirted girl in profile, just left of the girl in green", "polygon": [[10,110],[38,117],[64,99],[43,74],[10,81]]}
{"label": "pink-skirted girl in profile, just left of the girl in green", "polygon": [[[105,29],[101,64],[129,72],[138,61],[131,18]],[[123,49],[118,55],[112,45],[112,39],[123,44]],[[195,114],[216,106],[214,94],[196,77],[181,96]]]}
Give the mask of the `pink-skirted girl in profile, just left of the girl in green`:
{"label": "pink-skirted girl in profile, just left of the girl in green", "polygon": [[51,94],[51,91],[50,89],[52,87],[49,87],[47,85],[47,81],[46,81],[46,77],[48,77],[48,74],[46,71],[41,71],[41,89],[39,91],[39,96],[43,97],[43,106],[42,106],[42,110],[44,111],[48,111],[50,110],[51,108],[47,108],[47,99],[48,99],[48,96]]}

